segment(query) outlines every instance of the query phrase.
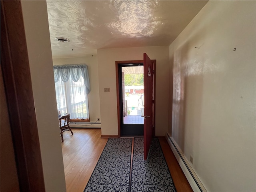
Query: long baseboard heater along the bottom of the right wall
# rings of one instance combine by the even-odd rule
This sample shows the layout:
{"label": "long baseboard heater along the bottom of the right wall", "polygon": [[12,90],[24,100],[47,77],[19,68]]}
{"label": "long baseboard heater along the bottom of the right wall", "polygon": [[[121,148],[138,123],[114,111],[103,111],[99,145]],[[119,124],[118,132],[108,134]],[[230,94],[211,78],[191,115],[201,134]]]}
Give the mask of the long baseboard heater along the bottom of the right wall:
{"label": "long baseboard heater along the bottom of the right wall", "polygon": [[194,172],[193,168],[190,166],[188,163],[188,160],[185,158],[183,155],[182,151],[179,149],[178,145],[170,137],[170,135],[167,133],[166,134],[166,140],[172,149],[172,152],[174,153],[178,163],[180,164],[180,167],[182,171],[184,172],[191,188],[195,192],[207,192],[206,188],[204,188],[202,182],[199,180],[198,176],[196,176],[196,173]]}

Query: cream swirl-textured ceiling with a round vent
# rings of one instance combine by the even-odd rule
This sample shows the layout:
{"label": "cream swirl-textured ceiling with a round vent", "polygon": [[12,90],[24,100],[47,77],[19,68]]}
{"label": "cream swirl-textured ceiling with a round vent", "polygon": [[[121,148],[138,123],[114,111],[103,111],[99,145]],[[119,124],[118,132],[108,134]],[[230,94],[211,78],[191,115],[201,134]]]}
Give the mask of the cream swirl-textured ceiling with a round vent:
{"label": "cream swirl-textured ceiling with a round vent", "polygon": [[100,48],[170,45],[207,2],[48,0],[52,57],[95,55]]}

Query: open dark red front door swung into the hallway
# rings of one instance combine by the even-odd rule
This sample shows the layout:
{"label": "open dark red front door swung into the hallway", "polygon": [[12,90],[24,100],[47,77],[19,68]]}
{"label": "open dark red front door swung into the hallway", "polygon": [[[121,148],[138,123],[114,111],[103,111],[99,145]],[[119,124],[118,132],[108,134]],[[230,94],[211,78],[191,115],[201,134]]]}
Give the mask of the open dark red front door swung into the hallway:
{"label": "open dark red front door swung into the hallway", "polygon": [[144,60],[144,160],[148,157],[153,137],[153,62],[143,55]]}

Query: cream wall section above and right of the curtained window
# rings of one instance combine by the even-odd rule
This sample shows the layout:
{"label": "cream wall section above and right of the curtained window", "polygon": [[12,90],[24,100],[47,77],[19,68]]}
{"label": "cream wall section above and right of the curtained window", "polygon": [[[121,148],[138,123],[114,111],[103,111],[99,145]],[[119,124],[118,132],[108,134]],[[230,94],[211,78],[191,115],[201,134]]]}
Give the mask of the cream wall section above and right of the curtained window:
{"label": "cream wall section above and right of the curtained window", "polygon": [[90,122],[96,122],[100,118],[100,96],[98,80],[98,59],[97,56],[56,58],[52,59],[53,65],[86,64],[90,79],[90,93],[88,94],[88,105]]}

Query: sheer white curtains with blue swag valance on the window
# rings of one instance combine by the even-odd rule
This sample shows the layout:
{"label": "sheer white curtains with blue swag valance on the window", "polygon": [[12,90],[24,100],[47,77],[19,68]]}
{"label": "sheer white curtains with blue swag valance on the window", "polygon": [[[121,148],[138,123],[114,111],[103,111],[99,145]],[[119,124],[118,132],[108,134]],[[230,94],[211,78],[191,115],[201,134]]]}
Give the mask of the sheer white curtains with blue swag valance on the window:
{"label": "sheer white curtains with blue swag valance on the window", "polygon": [[90,82],[87,66],[54,66],[54,81],[57,106],[61,114],[70,113],[71,119],[89,119]]}

